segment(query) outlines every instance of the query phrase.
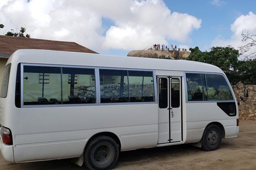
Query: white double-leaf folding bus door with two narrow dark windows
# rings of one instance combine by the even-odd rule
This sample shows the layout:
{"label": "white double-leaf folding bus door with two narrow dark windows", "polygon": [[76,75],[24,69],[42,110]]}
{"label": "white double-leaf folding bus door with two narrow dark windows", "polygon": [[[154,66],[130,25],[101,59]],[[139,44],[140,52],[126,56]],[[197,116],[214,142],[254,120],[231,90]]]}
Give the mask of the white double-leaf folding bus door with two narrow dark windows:
{"label": "white double-leaf folding bus door with two narrow dark windows", "polygon": [[158,76],[158,144],[181,141],[181,77]]}

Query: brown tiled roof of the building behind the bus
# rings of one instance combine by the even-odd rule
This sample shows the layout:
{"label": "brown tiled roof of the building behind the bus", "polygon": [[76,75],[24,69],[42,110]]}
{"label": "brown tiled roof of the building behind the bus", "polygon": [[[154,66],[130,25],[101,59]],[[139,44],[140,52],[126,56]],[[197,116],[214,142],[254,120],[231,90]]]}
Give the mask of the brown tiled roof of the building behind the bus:
{"label": "brown tiled roof of the building behind the bus", "polygon": [[0,54],[12,54],[18,49],[43,49],[98,54],[75,42],[0,36]]}

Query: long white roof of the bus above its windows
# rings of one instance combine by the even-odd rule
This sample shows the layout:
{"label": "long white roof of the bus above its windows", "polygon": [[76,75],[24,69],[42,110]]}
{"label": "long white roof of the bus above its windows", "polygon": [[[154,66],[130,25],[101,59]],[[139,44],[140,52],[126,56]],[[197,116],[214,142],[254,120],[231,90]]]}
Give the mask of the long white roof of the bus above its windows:
{"label": "long white roof of the bus above its windows", "polygon": [[21,49],[15,51],[8,63],[57,64],[74,66],[97,66],[148,70],[174,70],[223,73],[216,66],[189,60],[170,60],[143,57],[109,56],[67,51]]}

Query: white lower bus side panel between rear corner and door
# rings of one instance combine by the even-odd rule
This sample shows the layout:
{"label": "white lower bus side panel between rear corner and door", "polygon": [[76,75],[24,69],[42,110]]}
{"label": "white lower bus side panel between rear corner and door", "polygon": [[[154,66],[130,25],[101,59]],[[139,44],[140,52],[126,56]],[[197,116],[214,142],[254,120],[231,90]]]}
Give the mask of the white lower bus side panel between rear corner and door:
{"label": "white lower bus side panel between rear corner and door", "polygon": [[16,162],[81,156],[88,139],[109,131],[121,150],[154,147],[158,140],[158,105],[23,108],[22,156]]}

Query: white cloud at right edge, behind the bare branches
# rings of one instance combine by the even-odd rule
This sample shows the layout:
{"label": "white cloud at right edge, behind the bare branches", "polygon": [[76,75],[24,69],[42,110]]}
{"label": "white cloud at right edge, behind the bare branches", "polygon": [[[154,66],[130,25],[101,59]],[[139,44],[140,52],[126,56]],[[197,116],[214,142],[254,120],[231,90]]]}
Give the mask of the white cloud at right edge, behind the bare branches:
{"label": "white cloud at right edge, behind the bare branches", "polygon": [[[230,29],[233,35],[230,39],[224,39],[221,35],[218,35],[212,42],[212,46],[228,46],[231,45],[233,48],[238,49],[239,46],[245,45],[242,43],[242,32],[256,34],[256,15],[253,12],[249,12],[247,15],[241,15],[236,18],[235,22],[231,24]],[[248,42],[247,42],[248,43]],[[252,52],[249,51],[247,55]]]}

